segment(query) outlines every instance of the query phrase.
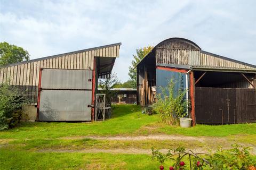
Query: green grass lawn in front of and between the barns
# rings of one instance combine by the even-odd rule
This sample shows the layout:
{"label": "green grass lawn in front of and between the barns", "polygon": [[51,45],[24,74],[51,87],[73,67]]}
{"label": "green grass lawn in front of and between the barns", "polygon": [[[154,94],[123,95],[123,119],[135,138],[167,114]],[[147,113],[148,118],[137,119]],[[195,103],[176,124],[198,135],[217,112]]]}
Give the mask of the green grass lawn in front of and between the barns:
{"label": "green grass lawn in front of and between the barns", "polygon": [[[159,164],[147,154],[85,153],[81,150],[150,150],[151,147],[178,146],[215,149],[217,143],[255,146],[256,141],[255,123],[196,125],[182,129],[163,124],[158,115],[141,114],[141,108],[135,105],[114,105],[112,115],[105,122],[23,122],[16,128],[0,131],[0,169],[157,169]],[[177,139],[131,140],[147,135],[172,135]],[[110,140],[113,137],[124,139]]]}

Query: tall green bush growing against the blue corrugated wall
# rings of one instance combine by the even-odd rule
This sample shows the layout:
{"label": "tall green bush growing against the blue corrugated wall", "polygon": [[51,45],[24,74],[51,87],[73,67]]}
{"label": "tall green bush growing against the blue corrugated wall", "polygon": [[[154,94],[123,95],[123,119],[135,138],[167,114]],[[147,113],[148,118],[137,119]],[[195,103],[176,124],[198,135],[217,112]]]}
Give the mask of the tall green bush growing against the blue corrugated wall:
{"label": "tall green bush growing against the blue corrugated wall", "polygon": [[186,91],[174,91],[175,82],[171,79],[167,87],[161,88],[161,94],[157,94],[154,111],[159,114],[162,121],[169,125],[175,125],[178,117],[185,117],[188,101],[185,99]]}

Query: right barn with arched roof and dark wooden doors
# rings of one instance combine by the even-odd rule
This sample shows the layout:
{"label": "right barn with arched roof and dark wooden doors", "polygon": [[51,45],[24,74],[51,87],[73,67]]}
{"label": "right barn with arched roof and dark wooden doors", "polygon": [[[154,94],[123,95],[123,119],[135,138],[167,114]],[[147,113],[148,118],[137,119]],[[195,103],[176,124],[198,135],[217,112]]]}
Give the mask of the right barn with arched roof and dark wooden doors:
{"label": "right barn with arched roof and dark wooden doors", "polygon": [[193,125],[256,122],[256,66],[202,50],[193,41],[170,38],[137,65],[137,103],[152,105],[154,89],[187,91]]}

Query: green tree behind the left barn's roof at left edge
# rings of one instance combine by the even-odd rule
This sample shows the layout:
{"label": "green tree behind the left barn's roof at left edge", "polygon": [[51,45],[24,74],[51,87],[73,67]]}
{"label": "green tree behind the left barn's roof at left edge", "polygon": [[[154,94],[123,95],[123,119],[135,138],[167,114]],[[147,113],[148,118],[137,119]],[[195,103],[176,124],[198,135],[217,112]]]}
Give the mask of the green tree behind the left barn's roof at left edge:
{"label": "green tree behind the left barn's roof at left edge", "polygon": [[9,43],[0,43],[0,65],[17,63],[29,60],[27,50]]}

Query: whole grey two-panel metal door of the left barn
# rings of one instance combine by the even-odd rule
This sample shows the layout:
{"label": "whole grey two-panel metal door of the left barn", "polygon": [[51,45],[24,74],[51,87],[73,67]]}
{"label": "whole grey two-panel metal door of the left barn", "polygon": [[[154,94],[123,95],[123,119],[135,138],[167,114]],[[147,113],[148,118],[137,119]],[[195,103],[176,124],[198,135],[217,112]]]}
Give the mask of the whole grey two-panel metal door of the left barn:
{"label": "whole grey two-panel metal door of the left barn", "polygon": [[42,69],[39,121],[91,121],[92,70]]}

